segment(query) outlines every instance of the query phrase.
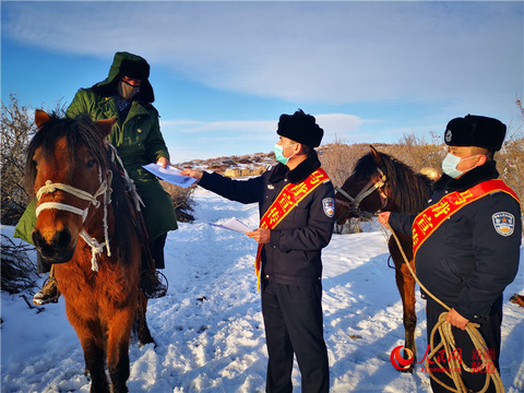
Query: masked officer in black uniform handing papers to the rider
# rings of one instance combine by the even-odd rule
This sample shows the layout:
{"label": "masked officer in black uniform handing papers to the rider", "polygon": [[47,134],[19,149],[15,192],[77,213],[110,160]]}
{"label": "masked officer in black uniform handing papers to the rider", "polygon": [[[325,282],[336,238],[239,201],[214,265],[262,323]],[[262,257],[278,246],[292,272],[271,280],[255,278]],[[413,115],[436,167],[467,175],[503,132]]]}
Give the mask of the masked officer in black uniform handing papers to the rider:
{"label": "masked officer in black uniform handing papers to the rider", "polygon": [[246,235],[259,243],[269,353],[266,392],[291,392],[294,354],[302,392],[327,392],[321,250],[333,233],[334,192],[313,150],[323,130],[314,117],[299,110],[281,116],[277,133],[275,155],[281,164],[260,177],[237,181],[190,169],[182,175],[229,200],[259,203],[260,228]]}

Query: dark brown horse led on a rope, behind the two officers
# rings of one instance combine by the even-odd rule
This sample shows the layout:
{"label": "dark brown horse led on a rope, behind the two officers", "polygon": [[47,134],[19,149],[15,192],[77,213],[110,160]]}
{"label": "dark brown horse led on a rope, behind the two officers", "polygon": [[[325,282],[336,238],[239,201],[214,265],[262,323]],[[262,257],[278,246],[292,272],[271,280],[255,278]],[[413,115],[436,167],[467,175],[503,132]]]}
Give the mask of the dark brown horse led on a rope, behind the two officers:
{"label": "dark brown horse led on a rope, behind the two officers", "polygon": [[[407,165],[392,156],[377,152],[373,146],[370,147],[371,152],[357,162],[353,175],[342,188],[335,188],[336,223],[340,225],[348,218],[371,216],[378,211],[417,214],[427,205],[432,180],[425,175],[415,174]],[[412,238],[401,233],[395,234],[415,270]],[[415,279],[393,237],[390,237],[388,248],[395,264],[396,286],[404,309],[404,348],[416,356]],[[413,372],[414,364],[415,361],[405,371]]]}

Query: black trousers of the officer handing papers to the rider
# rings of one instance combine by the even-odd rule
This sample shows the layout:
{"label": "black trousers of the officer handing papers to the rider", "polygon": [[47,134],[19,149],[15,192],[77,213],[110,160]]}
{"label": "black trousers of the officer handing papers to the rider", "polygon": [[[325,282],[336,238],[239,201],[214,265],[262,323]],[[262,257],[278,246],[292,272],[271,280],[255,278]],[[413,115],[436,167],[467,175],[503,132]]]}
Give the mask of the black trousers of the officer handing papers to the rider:
{"label": "black trousers of the officer handing papers to the rider", "polygon": [[330,369],[323,338],[322,284],[262,283],[262,314],[269,353],[266,392],[293,391],[297,356],[303,393],[329,392]]}

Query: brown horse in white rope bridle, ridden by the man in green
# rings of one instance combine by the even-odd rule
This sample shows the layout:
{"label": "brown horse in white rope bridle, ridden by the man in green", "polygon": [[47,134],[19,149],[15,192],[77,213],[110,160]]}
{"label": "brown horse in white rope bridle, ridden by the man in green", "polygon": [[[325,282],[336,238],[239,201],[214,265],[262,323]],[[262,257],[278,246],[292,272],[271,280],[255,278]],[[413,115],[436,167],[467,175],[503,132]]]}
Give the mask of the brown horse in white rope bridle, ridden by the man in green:
{"label": "brown horse in white rope bridle, ridden by the man in green", "polygon": [[27,151],[27,179],[38,200],[35,247],[55,264],[91,392],[128,392],[135,315],[140,342],[153,338],[145,323],[147,299],[139,290],[141,241],[127,184],[105,143],[115,119],[94,123],[37,110],[35,123],[38,132]]}

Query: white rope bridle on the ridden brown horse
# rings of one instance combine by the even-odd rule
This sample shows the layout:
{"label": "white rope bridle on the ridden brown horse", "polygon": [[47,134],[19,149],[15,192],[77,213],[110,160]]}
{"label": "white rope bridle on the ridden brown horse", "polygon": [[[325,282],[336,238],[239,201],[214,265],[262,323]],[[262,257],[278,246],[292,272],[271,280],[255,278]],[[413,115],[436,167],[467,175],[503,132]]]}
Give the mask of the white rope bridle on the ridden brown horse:
{"label": "white rope bridle on the ridden brown horse", "polygon": [[36,209],[37,217],[45,210],[60,210],[60,211],[80,215],[82,217],[82,223],[85,223],[91,205],[94,205],[95,209],[97,209],[100,205],[100,201],[98,201],[98,196],[104,195],[104,238],[105,238],[104,240],[105,241],[103,243],[99,243],[95,238],[91,237],[85,231],[85,229],[82,229],[82,231],[80,233],[80,236],[82,237],[82,239],[84,239],[87,246],[91,247],[91,252],[92,252],[91,269],[94,272],[98,271],[98,263],[96,261],[96,255],[98,255],[102,251],[104,251],[104,247],[106,247],[107,249],[107,257],[111,257],[111,250],[109,248],[108,226],[107,226],[107,205],[111,203],[112,171],[108,169],[106,171],[106,177],[104,180],[102,179],[102,174],[99,172],[98,178],[100,181],[100,187],[98,187],[98,190],[94,194],[91,194],[84,190],[78,189],[69,184],[55,183],[51,180],[47,180],[46,184],[43,186],[36,193],[36,198],[38,201],[41,199],[44,194],[52,193],[57,190],[61,190],[64,192],[69,192],[70,194],[81,200],[91,202],[90,205],[84,210],[66,204],[66,203],[60,203],[60,202],[44,202],[40,205],[38,205],[38,207]]}

